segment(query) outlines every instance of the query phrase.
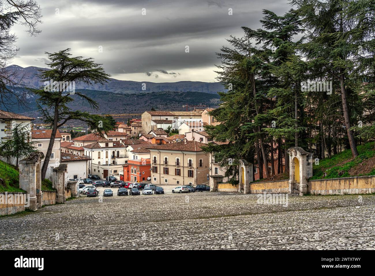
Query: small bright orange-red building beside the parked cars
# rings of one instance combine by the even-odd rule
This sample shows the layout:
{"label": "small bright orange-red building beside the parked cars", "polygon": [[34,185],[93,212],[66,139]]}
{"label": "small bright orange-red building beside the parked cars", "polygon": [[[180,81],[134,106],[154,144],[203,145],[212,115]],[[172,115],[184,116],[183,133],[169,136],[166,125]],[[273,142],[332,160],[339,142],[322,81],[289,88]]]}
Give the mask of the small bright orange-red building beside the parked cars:
{"label": "small bright orange-red building beside the parked cars", "polygon": [[[151,176],[151,160],[142,158],[142,159],[133,159],[127,160],[127,164],[123,165],[124,175],[120,176],[120,180],[130,181],[130,182],[142,182],[146,181],[147,177]],[[123,178],[123,179],[121,179]]]}

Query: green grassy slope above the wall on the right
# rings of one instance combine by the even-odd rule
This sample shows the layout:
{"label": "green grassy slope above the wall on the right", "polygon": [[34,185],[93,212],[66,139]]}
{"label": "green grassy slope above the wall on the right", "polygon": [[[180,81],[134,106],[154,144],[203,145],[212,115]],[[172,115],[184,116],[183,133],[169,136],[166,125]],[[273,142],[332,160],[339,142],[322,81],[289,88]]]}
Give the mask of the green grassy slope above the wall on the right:
{"label": "green grassy slope above the wall on the right", "polygon": [[[374,142],[368,142],[367,144],[359,145],[357,147],[359,156],[356,159],[352,158],[351,150],[344,150],[341,153],[333,155],[331,158],[325,158],[319,161],[319,165],[313,164],[313,176],[312,179],[323,179],[323,178],[340,178],[340,177],[351,177],[360,175],[375,175],[375,167],[372,171],[365,172],[358,175],[350,175],[349,170],[360,166],[362,162],[375,158]],[[324,177],[324,172],[327,175]],[[342,175],[339,175],[341,172]]]}

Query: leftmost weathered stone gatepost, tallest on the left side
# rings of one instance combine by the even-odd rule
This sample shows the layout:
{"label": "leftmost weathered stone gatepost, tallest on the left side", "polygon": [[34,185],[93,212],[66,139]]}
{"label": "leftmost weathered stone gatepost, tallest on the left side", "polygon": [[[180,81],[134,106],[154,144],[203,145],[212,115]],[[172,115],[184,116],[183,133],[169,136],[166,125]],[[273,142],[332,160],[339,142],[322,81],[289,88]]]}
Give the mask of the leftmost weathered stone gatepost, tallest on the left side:
{"label": "leftmost weathered stone gatepost, tallest on the left side", "polygon": [[20,188],[30,196],[28,209],[35,211],[43,205],[42,171],[41,160],[44,158],[42,152],[36,151],[20,161]]}

